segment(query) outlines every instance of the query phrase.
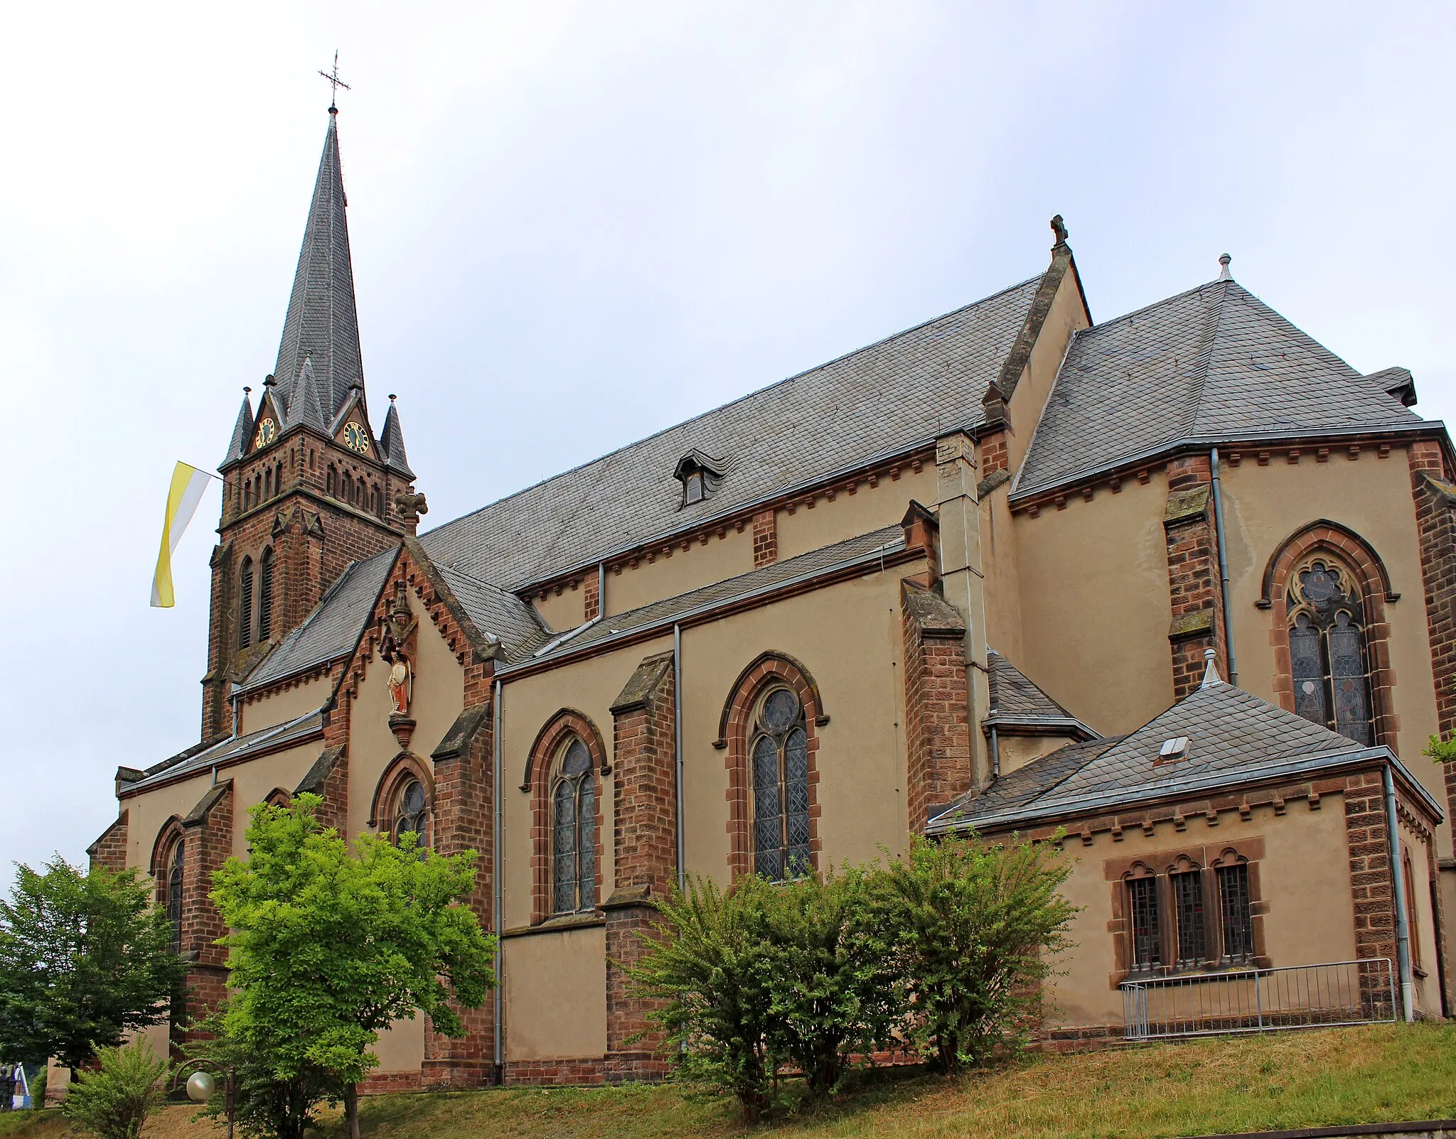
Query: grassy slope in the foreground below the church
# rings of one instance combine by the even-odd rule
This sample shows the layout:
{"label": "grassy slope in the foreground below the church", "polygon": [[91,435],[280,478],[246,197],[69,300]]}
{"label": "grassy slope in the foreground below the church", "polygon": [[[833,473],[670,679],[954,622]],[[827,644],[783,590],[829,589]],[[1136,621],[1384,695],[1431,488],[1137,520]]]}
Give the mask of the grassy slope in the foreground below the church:
{"label": "grassy slope in the foreground below the church", "polygon": [[[147,1139],[211,1136],[169,1107]],[[0,1136],[60,1139],[58,1113],[0,1116]],[[1337,1028],[1034,1056],[958,1079],[878,1074],[818,1111],[744,1127],[677,1087],[511,1088],[363,1101],[377,1139],[1105,1139],[1456,1117],[1456,1027]],[[220,1135],[220,1132],[218,1132]],[[325,1135],[344,1135],[326,1120]]]}

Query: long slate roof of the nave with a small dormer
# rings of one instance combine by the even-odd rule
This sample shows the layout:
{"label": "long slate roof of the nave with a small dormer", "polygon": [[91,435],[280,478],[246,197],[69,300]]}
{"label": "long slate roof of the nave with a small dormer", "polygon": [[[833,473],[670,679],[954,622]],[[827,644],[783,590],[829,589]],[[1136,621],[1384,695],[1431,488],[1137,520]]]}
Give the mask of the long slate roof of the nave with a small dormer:
{"label": "long slate roof of the nave with a small dormer", "polygon": [[[732,512],[981,422],[981,394],[1041,276],[558,474],[431,529],[437,563],[508,589]],[[706,500],[678,509],[693,449],[722,460]]]}

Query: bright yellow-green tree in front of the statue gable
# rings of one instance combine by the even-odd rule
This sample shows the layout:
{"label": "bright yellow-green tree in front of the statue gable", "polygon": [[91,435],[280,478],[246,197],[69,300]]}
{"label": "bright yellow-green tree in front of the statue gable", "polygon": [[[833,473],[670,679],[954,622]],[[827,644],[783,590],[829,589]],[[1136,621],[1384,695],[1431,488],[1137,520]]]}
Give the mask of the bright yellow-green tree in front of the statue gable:
{"label": "bright yellow-green tree in front of the statue gable", "polygon": [[213,900],[232,934],[227,1036],[265,1058],[275,1079],[310,1069],[344,1088],[379,1060],[381,1028],[416,1012],[462,1036],[453,1005],[478,1008],[495,985],[495,938],[460,905],[475,887],[473,851],[444,857],[360,835],[355,854],[317,819],[317,796],[250,812],[248,861],[214,874]]}

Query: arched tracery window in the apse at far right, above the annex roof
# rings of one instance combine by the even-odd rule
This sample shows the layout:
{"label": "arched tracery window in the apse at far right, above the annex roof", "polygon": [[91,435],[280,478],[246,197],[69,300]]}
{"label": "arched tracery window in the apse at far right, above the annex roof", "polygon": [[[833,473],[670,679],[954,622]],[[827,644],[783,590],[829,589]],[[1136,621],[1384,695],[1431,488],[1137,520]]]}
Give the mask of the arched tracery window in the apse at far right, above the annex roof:
{"label": "arched tracery window in the apse at far right, above the annex roof", "polygon": [[1370,660],[1356,575],[1328,556],[1290,575],[1289,656],[1294,711],[1357,743],[1373,743]]}

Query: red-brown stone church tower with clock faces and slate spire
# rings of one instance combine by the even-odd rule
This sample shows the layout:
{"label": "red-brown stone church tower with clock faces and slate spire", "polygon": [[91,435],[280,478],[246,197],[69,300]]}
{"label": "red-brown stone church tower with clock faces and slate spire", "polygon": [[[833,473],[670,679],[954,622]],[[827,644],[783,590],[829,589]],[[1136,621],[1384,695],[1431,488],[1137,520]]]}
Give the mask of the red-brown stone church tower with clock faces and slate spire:
{"label": "red-brown stone church tower with clock faces and slate spire", "polygon": [[331,106],[278,364],[256,410],[245,388],[218,465],[204,740],[233,730],[233,684],[313,611],[339,573],[414,534],[424,512],[422,497],[409,497],[415,476],[393,396],[379,435],[371,426],[347,205]]}

